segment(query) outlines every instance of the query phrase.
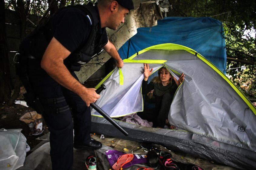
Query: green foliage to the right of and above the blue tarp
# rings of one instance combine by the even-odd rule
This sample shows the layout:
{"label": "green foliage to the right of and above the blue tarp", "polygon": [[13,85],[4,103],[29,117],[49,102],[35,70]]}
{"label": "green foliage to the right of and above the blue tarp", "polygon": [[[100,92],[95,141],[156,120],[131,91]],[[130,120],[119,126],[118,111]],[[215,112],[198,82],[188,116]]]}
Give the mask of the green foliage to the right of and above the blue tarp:
{"label": "green foliage to the right of and above the blue tarp", "polygon": [[[251,0],[174,0],[169,1],[172,9],[167,16],[212,17],[222,21],[227,57],[251,61],[244,64],[227,61],[226,73],[249,98],[256,98],[256,39],[244,35],[246,30],[256,32],[256,1]],[[244,69],[230,69],[246,66]],[[253,95],[254,94],[254,95]]]}

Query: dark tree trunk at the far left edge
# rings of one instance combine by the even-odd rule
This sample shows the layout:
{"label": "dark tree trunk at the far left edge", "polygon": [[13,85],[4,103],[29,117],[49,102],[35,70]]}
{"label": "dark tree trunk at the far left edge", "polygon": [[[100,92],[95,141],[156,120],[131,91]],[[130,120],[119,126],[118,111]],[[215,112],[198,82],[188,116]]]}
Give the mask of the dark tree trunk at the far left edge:
{"label": "dark tree trunk at the far left edge", "polygon": [[0,2],[0,102],[8,101],[12,90],[5,32],[5,3]]}

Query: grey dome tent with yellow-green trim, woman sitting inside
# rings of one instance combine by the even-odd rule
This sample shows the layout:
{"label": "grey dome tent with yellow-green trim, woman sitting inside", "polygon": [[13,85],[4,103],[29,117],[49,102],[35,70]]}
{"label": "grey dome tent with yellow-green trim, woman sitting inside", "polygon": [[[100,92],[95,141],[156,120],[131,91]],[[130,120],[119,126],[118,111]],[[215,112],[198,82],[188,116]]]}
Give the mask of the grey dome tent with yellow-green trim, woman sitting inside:
{"label": "grey dome tent with yellow-green trim, woman sitting inside", "polygon": [[96,104],[111,117],[142,111],[143,63],[153,72],[162,66],[173,76],[184,72],[168,115],[169,123],[181,130],[117,121],[129,133],[124,136],[92,110],[92,132],[159,143],[240,169],[256,167],[256,108],[223,72],[188,47],[160,44],[125,59],[123,68],[114,69],[95,87],[106,85]]}

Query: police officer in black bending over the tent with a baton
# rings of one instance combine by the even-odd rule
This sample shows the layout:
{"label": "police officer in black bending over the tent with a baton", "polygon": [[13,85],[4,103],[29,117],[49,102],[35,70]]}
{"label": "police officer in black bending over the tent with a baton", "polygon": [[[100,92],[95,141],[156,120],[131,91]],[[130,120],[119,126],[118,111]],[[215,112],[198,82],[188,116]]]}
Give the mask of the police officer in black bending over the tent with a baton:
{"label": "police officer in black bending over the tent with a baton", "polygon": [[[131,0],[101,0],[97,5],[78,5],[57,11],[39,25],[20,45],[18,74],[28,92],[28,102],[42,113],[50,133],[53,169],[71,169],[74,148],[99,149],[92,140],[90,103],[100,95],[85,88],[76,77],[102,48],[123,66],[106,29],[116,30],[129,10]],[[73,113],[73,122],[71,111]]]}

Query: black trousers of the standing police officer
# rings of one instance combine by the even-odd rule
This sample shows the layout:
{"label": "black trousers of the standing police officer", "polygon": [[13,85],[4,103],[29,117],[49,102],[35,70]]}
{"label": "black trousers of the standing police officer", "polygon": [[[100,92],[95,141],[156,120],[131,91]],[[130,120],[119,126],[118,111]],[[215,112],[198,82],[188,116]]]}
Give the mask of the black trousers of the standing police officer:
{"label": "black trousers of the standing police officer", "polygon": [[[73,77],[78,79],[74,72]],[[33,91],[41,101],[45,111],[43,118],[50,133],[52,169],[72,169],[73,127],[74,143],[87,144],[91,141],[91,110],[74,92],[62,87],[49,75],[28,74]],[[54,99],[61,99],[56,102]],[[54,102],[55,101],[55,102]],[[73,114],[73,121],[71,111]]]}

